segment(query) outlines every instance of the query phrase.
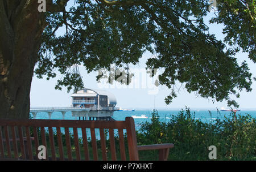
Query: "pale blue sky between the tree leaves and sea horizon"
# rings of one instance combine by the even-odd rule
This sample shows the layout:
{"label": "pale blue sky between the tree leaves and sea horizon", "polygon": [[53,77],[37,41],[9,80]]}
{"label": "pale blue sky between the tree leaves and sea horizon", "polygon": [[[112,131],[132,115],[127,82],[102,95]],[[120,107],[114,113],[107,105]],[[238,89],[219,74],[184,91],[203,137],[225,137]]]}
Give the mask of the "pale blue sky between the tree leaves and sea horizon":
{"label": "pale blue sky between the tree leaves and sea horizon", "polygon": [[[209,14],[205,18],[205,23],[211,18],[213,14]],[[208,23],[207,23],[208,24]],[[220,24],[208,24],[210,27],[210,33],[216,34],[218,40],[222,40],[224,35],[222,34],[223,26]],[[59,31],[61,32],[61,31]],[[144,53],[141,61],[138,65],[132,66],[131,68],[141,69],[145,67],[145,62],[147,58],[150,58],[152,54]],[[247,58],[246,53],[238,53],[236,55],[237,61],[241,63],[246,60],[249,64],[249,68],[253,77],[256,74],[256,65]],[[80,73],[84,81],[86,88],[91,89],[102,89],[96,81],[96,72],[87,74],[84,67],[80,67]],[[72,91],[67,93],[67,89],[63,88],[62,91],[55,90],[55,84],[57,79],[60,79],[61,75],[57,75],[56,78],[50,79],[49,81],[44,79],[38,79],[36,77],[32,80],[31,85],[31,107],[63,107],[71,105],[71,94]],[[139,80],[140,84],[142,81]],[[211,100],[201,98],[195,93],[189,94],[184,89],[180,89],[177,97],[174,99],[171,105],[166,105],[164,98],[170,94],[170,90],[163,85],[159,85],[157,94],[148,94],[152,91],[152,88],[104,88],[106,91],[112,92],[117,98],[117,106],[122,108],[135,108],[135,109],[181,109],[184,106],[188,106],[192,109],[214,109],[226,106],[226,101],[216,102],[212,104]],[[177,85],[179,87],[179,85]],[[235,98],[235,100],[240,104],[241,109],[253,108],[256,109],[255,97],[256,97],[256,84],[255,82],[251,85],[253,91],[247,93],[245,91],[241,92],[240,98]]]}

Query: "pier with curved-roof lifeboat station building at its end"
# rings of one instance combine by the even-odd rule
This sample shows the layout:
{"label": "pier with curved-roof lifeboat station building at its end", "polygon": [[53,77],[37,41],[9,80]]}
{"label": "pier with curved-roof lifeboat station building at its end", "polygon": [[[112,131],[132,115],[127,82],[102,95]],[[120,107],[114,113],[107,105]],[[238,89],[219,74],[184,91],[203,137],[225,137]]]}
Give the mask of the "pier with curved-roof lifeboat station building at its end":
{"label": "pier with curved-roof lifeboat station building at its end", "polygon": [[36,114],[40,112],[48,113],[49,119],[52,113],[59,111],[62,118],[65,119],[65,114],[71,111],[72,117],[80,120],[108,120],[113,121],[113,113],[117,100],[114,94],[108,91],[84,88],[71,95],[72,105],[63,108],[31,108],[30,113],[36,118]]}

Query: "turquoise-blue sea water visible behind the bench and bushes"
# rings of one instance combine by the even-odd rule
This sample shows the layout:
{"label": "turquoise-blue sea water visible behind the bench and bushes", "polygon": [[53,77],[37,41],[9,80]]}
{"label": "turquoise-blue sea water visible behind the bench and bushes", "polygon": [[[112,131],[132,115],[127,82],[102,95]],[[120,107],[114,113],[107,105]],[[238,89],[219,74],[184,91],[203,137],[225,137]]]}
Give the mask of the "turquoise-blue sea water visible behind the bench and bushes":
{"label": "turquoise-blue sea water visible behind the bench and bushes", "polygon": [[[170,118],[172,117],[172,115],[177,115],[179,114],[180,110],[158,110],[158,115],[159,115],[159,119],[162,122],[168,122],[170,121]],[[216,120],[217,118],[219,119],[224,119],[224,115],[229,116],[229,114],[231,113],[230,111],[217,111],[217,110],[210,110],[210,112],[208,110],[191,110],[191,114],[195,113],[195,118],[196,119],[201,119],[201,121],[203,122],[214,122],[214,120]],[[251,117],[256,118],[256,110],[241,110],[241,111],[237,111],[236,113],[237,115],[246,115],[246,114],[250,114]],[[135,129],[138,130],[141,126],[142,122],[150,122],[151,121],[151,117],[152,117],[152,111],[151,110],[135,110],[135,111],[114,111],[114,115],[113,118],[117,121],[124,121],[125,117],[131,117],[132,115],[136,115],[138,117],[141,117],[141,115],[146,115],[146,117],[148,118],[134,118],[134,122],[135,122]],[[31,115],[31,118],[33,118],[33,116]],[[48,113],[38,113],[36,115],[35,119],[49,119]],[[63,116],[60,112],[53,112],[51,119],[63,119]],[[65,114],[65,118],[64,119],[77,119],[76,117],[72,117],[72,113],[67,112]],[[53,128],[54,130],[54,128]],[[64,133],[64,128],[61,128],[61,132]],[[72,133],[72,128],[70,128],[70,132]],[[86,131],[88,137],[90,137],[90,130],[88,129]],[[78,134],[79,137],[81,137],[81,130],[78,130]],[[100,135],[99,135],[99,131],[97,131],[96,129],[96,137],[97,139],[100,139]]]}

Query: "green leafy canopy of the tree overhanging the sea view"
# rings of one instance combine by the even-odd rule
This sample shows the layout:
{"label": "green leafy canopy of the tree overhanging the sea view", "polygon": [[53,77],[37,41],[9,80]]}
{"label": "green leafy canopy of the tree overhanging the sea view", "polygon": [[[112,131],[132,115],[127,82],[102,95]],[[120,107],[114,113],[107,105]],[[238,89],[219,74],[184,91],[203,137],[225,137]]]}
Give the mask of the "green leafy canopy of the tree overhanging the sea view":
{"label": "green leafy canopy of the tree overhanging the sea view", "polygon": [[[145,51],[148,68],[162,68],[159,84],[170,88],[170,104],[180,82],[188,92],[213,101],[230,100],[230,94],[251,91],[252,75],[246,62],[238,64],[239,50],[255,57],[255,0],[217,0],[216,17],[222,23],[224,41],[209,33],[204,23],[208,0],[68,0],[47,1],[47,27],[42,34],[35,74],[47,79],[63,74],[56,89],[83,87],[78,65],[88,72],[100,68],[136,65]],[[63,35],[57,35],[64,28]],[[227,44],[227,45],[225,45]]]}

